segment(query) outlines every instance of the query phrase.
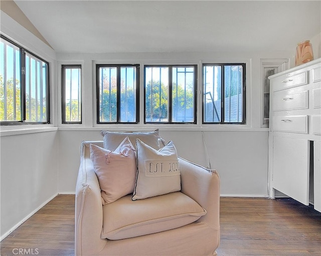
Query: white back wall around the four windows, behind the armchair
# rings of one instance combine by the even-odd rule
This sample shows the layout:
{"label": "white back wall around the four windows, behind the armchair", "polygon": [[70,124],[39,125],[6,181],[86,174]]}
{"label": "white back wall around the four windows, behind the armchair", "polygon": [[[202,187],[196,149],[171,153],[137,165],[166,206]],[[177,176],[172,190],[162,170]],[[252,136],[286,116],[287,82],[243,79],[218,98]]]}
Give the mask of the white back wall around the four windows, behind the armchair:
{"label": "white back wall around the four windows, behind the armchair", "polygon": [[[79,168],[79,150],[82,140],[101,140],[101,130],[152,131],[158,128],[168,142],[173,140],[178,154],[190,161],[208,166],[202,132],[208,149],[211,166],[221,176],[221,194],[225,196],[267,196],[268,129],[261,128],[262,78],[261,59],[288,58],[291,53],[102,53],[57,54],[58,64],[81,63],[83,74],[83,124],[59,125],[59,192],[74,192]],[[247,124],[200,124],[202,116],[201,94],[198,98],[198,124],[143,124],[143,108],[140,123],[132,125],[98,125],[95,116],[95,64],[139,63],[141,77],[144,64],[179,64],[245,62]],[[60,88],[60,86],[58,86]],[[198,79],[199,91],[202,79]],[[59,91],[60,93],[60,91]],[[140,81],[140,105],[143,106],[143,79]],[[59,97],[60,99],[60,97]],[[58,101],[58,106],[61,102]],[[60,114],[61,108],[58,113]],[[58,119],[61,119],[59,117]]]}

